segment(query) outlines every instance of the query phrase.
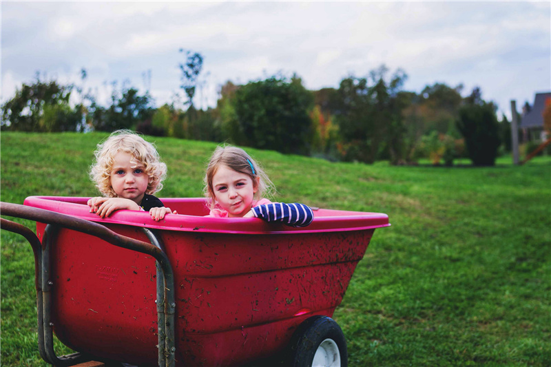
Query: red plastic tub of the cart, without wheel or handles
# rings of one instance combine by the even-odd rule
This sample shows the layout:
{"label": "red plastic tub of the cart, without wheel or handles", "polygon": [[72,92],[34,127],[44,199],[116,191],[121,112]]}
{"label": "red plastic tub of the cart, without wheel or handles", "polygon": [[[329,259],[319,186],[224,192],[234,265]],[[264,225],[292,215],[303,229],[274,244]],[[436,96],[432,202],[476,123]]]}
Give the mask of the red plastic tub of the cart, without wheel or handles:
{"label": "red plastic tub of the cart, without wheel or handles", "polygon": [[[154,222],[119,211],[101,219],[87,198],[30,197],[25,205],[101,222],[164,243],[174,270],[177,366],[236,366],[280,353],[312,315],[332,316],[380,213],[319,209],[309,227],[203,218],[203,199],[162,199],[180,215]],[[45,224],[37,223],[39,238]],[[59,229],[52,247],[52,322],[74,350],[131,364],[157,363],[156,266],[149,255]]]}

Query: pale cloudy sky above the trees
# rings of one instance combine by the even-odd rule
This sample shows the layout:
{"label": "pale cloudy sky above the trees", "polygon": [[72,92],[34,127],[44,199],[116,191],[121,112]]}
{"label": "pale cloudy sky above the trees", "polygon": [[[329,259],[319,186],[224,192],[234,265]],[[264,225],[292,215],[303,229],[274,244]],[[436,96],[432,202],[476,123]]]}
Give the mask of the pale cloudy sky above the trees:
{"label": "pale cloudy sky above the trees", "polygon": [[[510,118],[551,91],[550,1],[1,1],[2,103],[37,72],[107,103],[113,83],[149,90],[156,106],[182,94],[180,49],[204,58],[196,107],[220,85],[297,74],[309,90],[368,76],[480,87]],[[87,78],[81,80],[81,70]]]}

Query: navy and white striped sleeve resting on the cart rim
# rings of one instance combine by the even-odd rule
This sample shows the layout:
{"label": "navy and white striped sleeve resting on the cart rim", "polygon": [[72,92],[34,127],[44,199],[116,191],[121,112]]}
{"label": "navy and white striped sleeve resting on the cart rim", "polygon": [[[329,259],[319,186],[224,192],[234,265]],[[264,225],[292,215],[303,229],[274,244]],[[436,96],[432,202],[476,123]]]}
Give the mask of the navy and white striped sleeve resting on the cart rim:
{"label": "navy and white striped sleeve resting on the cart rim", "polygon": [[267,222],[282,222],[291,227],[306,227],[314,219],[312,209],[298,202],[293,202],[293,204],[272,202],[253,207],[252,210],[256,218]]}

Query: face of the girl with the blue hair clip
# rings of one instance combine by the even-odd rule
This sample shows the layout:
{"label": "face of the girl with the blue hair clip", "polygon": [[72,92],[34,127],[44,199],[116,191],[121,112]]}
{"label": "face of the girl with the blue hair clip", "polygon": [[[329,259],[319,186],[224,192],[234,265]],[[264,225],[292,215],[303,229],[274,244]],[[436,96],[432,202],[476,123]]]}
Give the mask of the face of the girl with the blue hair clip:
{"label": "face of the girl with the blue hair clip", "polygon": [[230,218],[245,216],[251,210],[257,187],[251,176],[226,165],[220,165],[212,177],[214,198]]}

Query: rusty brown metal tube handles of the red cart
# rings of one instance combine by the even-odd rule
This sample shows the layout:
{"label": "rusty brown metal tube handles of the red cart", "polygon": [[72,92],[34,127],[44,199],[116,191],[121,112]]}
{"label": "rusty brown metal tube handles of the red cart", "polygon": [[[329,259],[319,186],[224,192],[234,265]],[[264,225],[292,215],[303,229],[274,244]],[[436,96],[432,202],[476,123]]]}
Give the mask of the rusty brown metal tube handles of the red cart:
{"label": "rusty brown metal tube handles of the red cart", "polygon": [[[161,251],[161,249],[154,246],[153,244],[149,244],[147,242],[143,242],[140,240],[135,240],[134,238],[129,238],[124,235],[119,235],[118,233],[115,233],[114,231],[108,229],[107,227],[104,227],[103,225],[95,222],[91,222],[89,220],[84,220],[73,216],[67,216],[65,214],[56,213],[54,211],[49,211],[45,209],[13,204],[11,202],[0,202],[0,213],[5,216],[34,220],[35,222],[57,224],[63,228],[72,229],[74,231],[79,231],[82,233],[94,235],[97,238],[101,238],[101,240],[104,240],[105,242],[114,244],[116,247],[122,247],[123,249],[129,249],[132,251],[138,251],[141,253],[145,253],[147,255],[151,255],[153,258],[155,258],[155,260],[157,260],[158,264],[160,265],[160,268],[163,270],[163,273],[165,275],[165,287],[171,290],[174,289],[174,277],[173,277],[172,267],[168,260],[168,257],[163,251]],[[29,240],[30,238],[29,242],[34,252],[34,262],[36,266],[41,262],[40,260],[38,260],[41,257],[37,256],[38,255],[37,249],[39,249],[40,252],[42,252],[42,247],[39,247],[37,245],[37,241],[39,242],[39,240],[36,237],[36,235],[32,233],[32,231],[30,230],[25,231],[21,229],[21,227],[24,227],[24,226],[21,226],[21,227],[19,226],[21,226],[21,224],[17,225],[17,223],[10,222],[9,220],[4,220],[4,219],[2,220],[2,227],[4,229],[7,229],[8,231],[12,231],[15,233],[19,233],[23,235],[27,240]],[[36,240],[32,238],[29,232],[32,233],[32,235],[34,235],[34,238],[36,238]],[[38,298],[42,298],[41,297],[42,293],[43,291],[46,291],[46,290],[42,289],[44,284],[41,284],[41,280],[40,280],[40,277],[37,276],[37,272],[38,270],[35,268],[35,285],[37,286],[37,302],[38,302],[39,301]],[[40,291],[39,291],[39,288],[41,289]],[[164,302],[165,314],[171,317],[172,315],[174,315],[175,308],[176,308],[176,304],[174,302],[174,292],[166,292],[165,294],[166,294],[166,299]],[[38,307],[38,309],[41,310],[41,307]],[[39,323],[40,322],[41,322],[41,315],[39,312]],[[40,329],[41,327],[39,325],[39,331]],[[165,353],[165,350],[159,349],[159,358],[161,353],[163,353],[163,359],[165,359],[164,356],[167,357],[166,366],[171,367],[171,366],[174,366],[174,351],[175,351],[174,327],[167,328],[166,334],[167,335],[165,337],[167,342],[170,341],[170,343],[167,344],[169,348],[167,348],[168,350],[166,350],[167,353]],[[161,338],[163,337],[163,335],[159,333],[158,337]],[[39,336],[39,343],[40,343],[40,336]],[[41,357],[43,357],[43,352],[44,352],[42,348],[43,346],[39,345],[39,350],[41,351]],[[50,353],[48,353],[48,350],[46,350],[45,354],[48,355]],[[54,356],[54,359],[57,359],[57,358]],[[55,362],[56,364],[61,362],[59,363],[60,365],[67,365],[66,360],[63,361],[61,359],[58,359],[58,361],[55,361]]]}

